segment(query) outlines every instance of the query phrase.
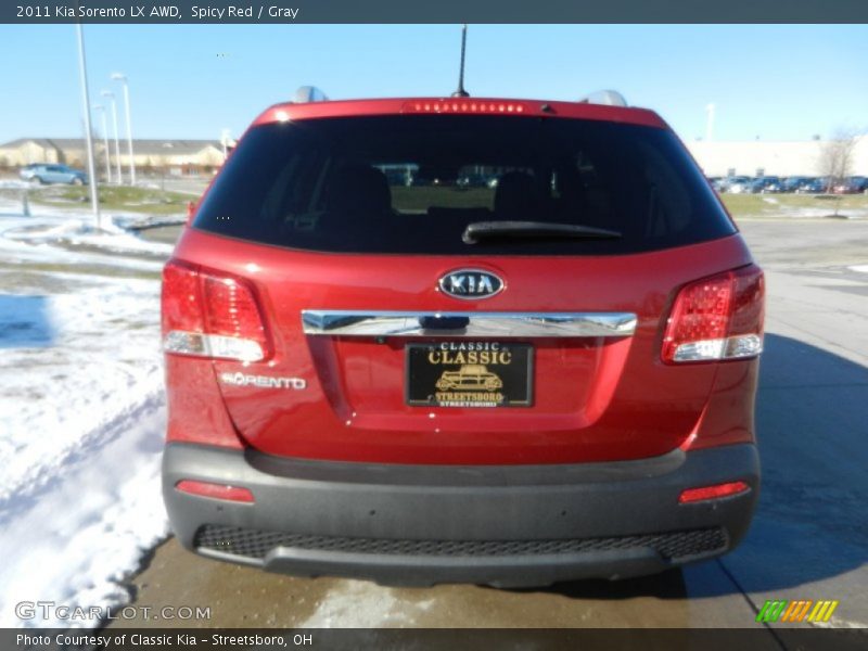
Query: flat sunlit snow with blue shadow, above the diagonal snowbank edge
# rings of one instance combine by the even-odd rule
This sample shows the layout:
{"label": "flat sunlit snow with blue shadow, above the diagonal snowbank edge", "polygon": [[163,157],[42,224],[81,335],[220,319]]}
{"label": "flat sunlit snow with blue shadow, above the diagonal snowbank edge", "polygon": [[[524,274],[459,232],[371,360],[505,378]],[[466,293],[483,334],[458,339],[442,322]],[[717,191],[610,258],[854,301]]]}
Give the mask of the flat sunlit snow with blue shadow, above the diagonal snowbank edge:
{"label": "flat sunlit snow with blue shadow, above the diagonal snowbank edge", "polygon": [[0,294],[0,522],[12,496],[161,387],[157,283],[123,285]]}

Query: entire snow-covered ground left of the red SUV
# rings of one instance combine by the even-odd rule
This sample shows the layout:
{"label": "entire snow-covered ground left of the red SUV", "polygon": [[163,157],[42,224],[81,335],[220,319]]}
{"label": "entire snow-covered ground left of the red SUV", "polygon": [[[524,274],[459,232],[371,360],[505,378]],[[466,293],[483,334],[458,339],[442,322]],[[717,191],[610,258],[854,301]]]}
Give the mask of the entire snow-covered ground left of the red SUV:
{"label": "entire snow-covered ground left of the red SUV", "polygon": [[0,626],[117,605],[167,534],[159,270],[171,247],[0,200]]}

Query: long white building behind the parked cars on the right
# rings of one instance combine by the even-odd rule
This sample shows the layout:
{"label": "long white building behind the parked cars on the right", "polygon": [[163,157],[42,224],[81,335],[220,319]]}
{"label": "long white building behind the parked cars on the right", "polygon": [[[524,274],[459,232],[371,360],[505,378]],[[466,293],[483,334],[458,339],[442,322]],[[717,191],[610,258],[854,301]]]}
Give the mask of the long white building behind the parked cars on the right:
{"label": "long white building behind the parked cars on the right", "polygon": [[[822,176],[820,159],[828,141],[718,142],[697,140],[687,148],[706,176]],[[868,135],[858,138],[851,174],[868,176]]]}

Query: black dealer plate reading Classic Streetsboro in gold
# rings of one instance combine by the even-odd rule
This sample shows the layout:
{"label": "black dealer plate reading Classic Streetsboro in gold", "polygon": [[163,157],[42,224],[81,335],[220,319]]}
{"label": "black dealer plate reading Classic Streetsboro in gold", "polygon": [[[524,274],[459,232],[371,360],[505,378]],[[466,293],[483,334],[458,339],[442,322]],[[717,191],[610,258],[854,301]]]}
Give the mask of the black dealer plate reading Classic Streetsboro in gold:
{"label": "black dealer plate reading Classic Streetsboro in gold", "polygon": [[500,342],[407,344],[405,396],[427,407],[531,407],[534,348]]}

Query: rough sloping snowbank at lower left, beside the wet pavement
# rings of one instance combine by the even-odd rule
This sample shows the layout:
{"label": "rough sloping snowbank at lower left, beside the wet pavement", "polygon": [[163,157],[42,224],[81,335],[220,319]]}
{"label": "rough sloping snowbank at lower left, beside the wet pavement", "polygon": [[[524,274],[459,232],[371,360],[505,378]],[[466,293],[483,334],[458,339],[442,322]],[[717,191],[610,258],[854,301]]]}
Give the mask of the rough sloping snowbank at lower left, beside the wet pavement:
{"label": "rough sloping snowbank at lower left, beside the wet pavement", "polygon": [[0,626],[95,626],[95,621],[18,620],[15,603],[102,608],[125,604],[120,585],[142,554],[168,533],[159,459],[161,395],[103,425],[50,481],[7,500],[0,511]]}

